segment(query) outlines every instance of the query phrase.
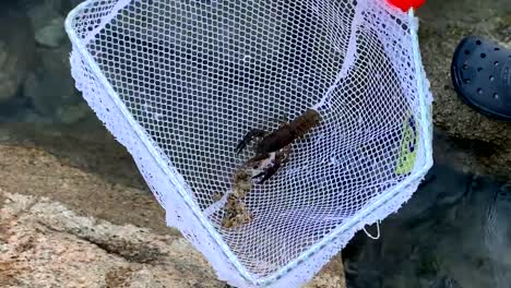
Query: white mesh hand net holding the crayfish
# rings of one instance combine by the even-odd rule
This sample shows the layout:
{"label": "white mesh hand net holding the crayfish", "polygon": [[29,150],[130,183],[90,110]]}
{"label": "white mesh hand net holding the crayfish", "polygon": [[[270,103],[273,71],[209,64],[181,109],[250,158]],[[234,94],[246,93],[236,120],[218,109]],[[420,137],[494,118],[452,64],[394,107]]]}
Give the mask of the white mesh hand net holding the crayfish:
{"label": "white mesh hand net holding the crayfish", "polygon": [[[76,87],[231,285],[310,280],[431,166],[416,22],[384,1],[90,0],[66,25]],[[321,121],[287,161],[233,183],[262,140],[237,155],[246,133],[308,108]],[[226,225],[242,184],[249,216]]]}

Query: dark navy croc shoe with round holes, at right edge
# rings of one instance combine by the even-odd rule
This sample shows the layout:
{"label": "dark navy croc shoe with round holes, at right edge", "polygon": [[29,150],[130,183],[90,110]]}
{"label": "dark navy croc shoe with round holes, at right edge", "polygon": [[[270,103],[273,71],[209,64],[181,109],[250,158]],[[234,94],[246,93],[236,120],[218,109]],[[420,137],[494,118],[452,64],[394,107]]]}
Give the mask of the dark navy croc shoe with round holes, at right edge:
{"label": "dark navy croc shoe with round holes, at right edge", "polygon": [[511,121],[511,50],[477,36],[457,45],[451,63],[454,89],[476,111]]}

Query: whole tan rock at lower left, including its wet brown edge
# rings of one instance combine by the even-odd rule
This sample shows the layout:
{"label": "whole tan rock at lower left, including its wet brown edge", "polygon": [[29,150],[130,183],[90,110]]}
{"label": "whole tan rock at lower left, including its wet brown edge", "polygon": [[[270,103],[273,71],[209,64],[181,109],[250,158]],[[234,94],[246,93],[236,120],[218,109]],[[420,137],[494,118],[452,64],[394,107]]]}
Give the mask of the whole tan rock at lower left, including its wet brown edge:
{"label": "whole tan rock at lower left, including its wet brown edge", "polygon": [[[38,148],[0,144],[2,167],[0,287],[225,288],[146,191]],[[344,288],[341,257],[307,287]]]}

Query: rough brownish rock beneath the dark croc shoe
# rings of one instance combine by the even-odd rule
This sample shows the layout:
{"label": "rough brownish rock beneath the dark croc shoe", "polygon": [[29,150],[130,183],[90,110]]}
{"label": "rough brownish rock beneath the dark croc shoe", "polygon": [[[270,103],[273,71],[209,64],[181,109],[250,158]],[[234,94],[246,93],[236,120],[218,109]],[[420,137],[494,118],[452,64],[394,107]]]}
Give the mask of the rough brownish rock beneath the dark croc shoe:
{"label": "rough brownish rock beneath the dark croc shoe", "polygon": [[511,123],[489,119],[463,104],[450,74],[452,55],[464,36],[480,35],[511,47],[509,0],[430,0],[418,12],[436,129],[467,151],[468,157],[460,159],[464,170],[511,180]]}

